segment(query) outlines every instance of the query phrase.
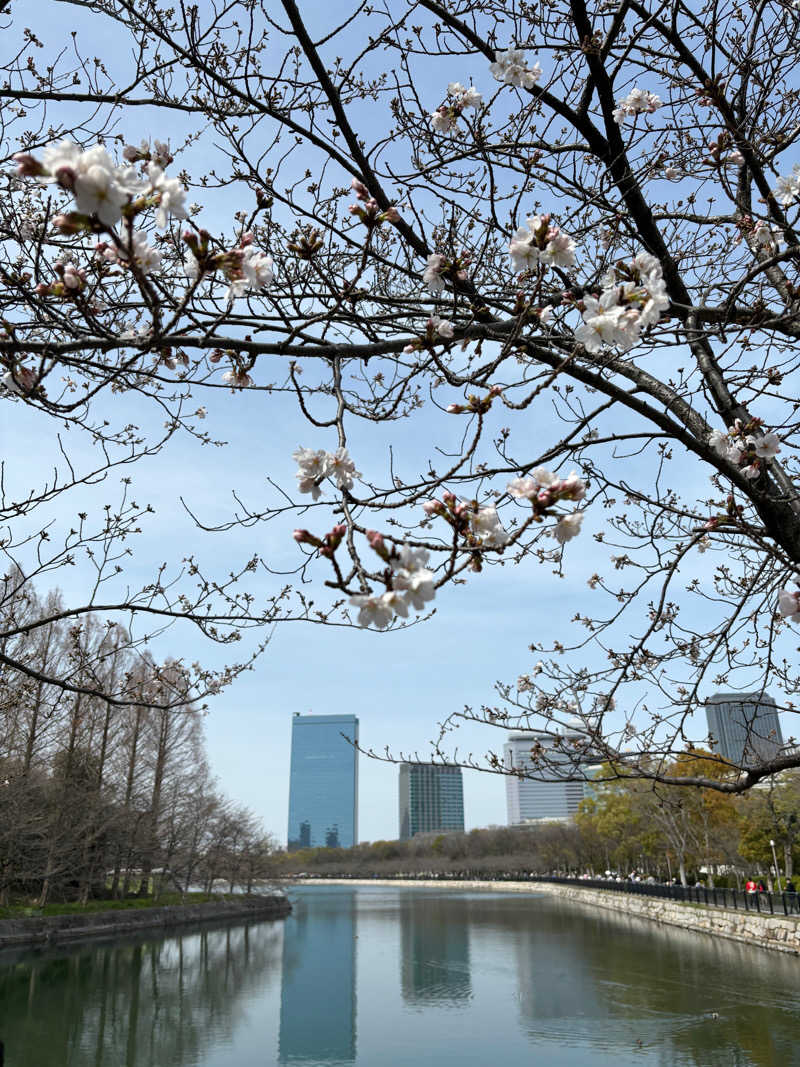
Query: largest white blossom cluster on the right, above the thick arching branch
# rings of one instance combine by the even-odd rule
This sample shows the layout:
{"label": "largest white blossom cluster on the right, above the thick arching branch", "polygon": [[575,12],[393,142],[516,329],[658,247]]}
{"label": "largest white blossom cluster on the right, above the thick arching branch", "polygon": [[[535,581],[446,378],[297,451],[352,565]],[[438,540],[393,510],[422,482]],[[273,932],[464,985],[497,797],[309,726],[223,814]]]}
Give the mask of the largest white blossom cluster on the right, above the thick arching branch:
{"label": "largest white blossom cluster on the right, above the thick arching branch", "polygon": [[601,284],[599,297],[583,298],[583,322],[575,331],[575,340],[588,352],[599,352],[604,344],[627,352],[670,305],[661,265],[655,256],[640,252],[630,265],[618,264],[608,271]]}

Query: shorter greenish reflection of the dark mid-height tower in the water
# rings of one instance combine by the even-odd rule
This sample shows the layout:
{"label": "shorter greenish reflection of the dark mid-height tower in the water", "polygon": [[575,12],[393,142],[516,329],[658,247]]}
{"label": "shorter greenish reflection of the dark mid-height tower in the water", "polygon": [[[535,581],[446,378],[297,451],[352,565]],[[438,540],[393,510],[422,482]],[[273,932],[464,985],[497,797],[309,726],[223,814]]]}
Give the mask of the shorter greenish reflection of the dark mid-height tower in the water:
{"label": "shorter greenish reflection of the dark mid-height tower in the water", "polygon": [[464,909],[452,898],[403,896],[400,927],[403,1000],[466,1001],[473,990]]}

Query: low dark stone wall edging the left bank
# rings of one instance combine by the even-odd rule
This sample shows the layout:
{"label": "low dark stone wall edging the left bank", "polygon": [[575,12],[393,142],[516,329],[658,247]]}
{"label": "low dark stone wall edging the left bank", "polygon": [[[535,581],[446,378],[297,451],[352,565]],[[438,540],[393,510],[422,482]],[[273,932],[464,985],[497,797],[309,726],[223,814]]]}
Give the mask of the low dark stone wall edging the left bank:
{"label": "low dark stone wall edging the left bank", "polygon": [[0,920],[0,949],[19,944],[50,944],[91,937],[115,937],[135,930],[170,928],[187,923],[285,919],[291,904],[283,895],[242,896],[235,901],[171,905],[163,908],[119,908],[69,915]]}

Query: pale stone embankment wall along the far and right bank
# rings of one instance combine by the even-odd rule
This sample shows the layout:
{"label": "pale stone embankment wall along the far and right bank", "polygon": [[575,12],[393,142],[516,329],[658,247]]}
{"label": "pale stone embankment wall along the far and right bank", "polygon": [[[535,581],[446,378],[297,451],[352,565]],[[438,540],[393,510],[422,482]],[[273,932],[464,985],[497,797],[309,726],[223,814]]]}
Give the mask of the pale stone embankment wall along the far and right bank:
{"label": "pale stone embankment wall along the far and right bank", "polygon": [[591,908],[604,908],[618,914],[652,919],[665,926],[677,926],[711,937],[800,955],[800,918],[735,911],[702,904],[681,903],[654,896],[635,896],[613,890],[585,889],[581,886],[547,881],[455,881],[417,878],[292,878],[290,886],[407,886],[412,889],[468,889],[495,893],[547,893]]}

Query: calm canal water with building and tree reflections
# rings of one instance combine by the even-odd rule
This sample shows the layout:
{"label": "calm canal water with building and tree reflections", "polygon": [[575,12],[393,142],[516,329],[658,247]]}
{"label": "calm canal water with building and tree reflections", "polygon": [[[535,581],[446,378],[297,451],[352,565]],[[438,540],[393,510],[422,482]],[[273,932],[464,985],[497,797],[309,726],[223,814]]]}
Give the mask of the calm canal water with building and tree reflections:
{"label": "calm canal water with building and tree reflections", "polygon": [[6,1067],[794,1067],[800,959],[545,894],[315,886],[285,922],[0,953]]}

